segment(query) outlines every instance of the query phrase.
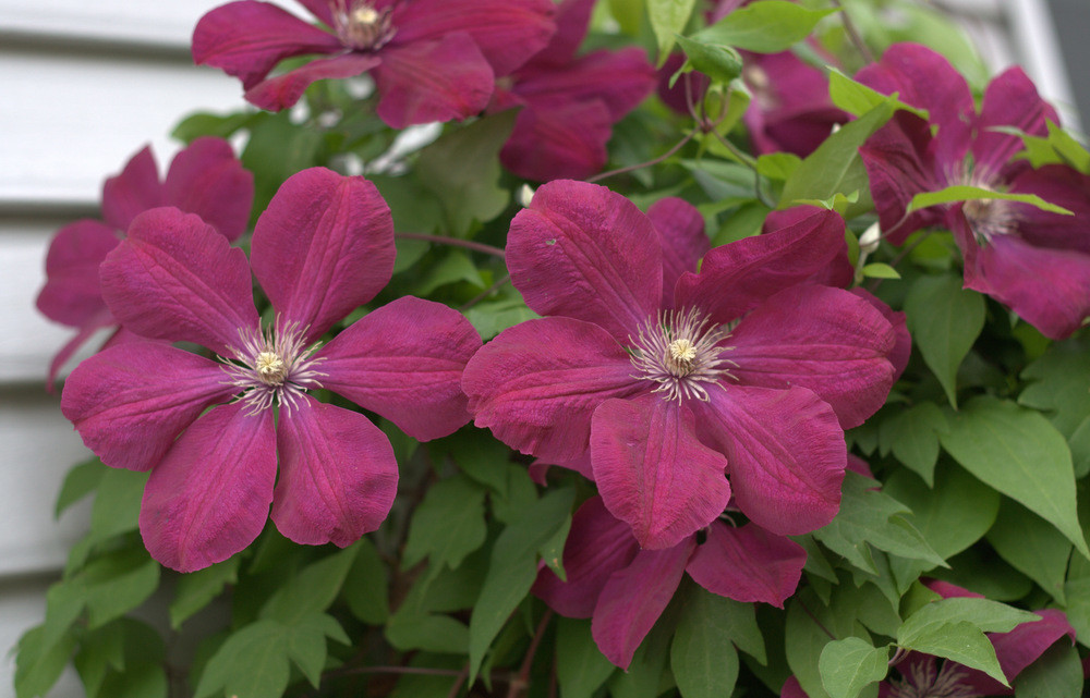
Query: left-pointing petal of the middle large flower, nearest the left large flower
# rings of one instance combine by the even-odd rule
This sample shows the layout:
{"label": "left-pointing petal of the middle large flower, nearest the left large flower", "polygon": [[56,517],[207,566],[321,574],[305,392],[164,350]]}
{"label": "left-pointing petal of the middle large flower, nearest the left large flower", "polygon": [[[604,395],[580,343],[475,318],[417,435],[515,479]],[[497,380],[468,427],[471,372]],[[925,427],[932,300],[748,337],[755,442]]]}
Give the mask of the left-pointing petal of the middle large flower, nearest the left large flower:
{"label": "left-pointing petal of the middle large flower, nearest the left large flower", "polygon": [[602,328],[545,318],[485,344],[465,366],[462,390],[476,426],[522,453],[567,462],[586,451],[595,407],[649,390],[632,370]]}

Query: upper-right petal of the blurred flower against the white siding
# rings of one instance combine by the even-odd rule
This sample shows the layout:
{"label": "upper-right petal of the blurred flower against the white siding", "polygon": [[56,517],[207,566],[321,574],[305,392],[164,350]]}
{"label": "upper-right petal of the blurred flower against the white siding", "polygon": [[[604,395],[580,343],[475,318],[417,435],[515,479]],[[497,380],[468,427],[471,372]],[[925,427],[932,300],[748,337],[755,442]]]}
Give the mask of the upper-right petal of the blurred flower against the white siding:
{"label": "upper-right petal of the blurred flower against the white siding", "polygon": [[196,213],[228,240],[245,232],[254,205],[254,175],[227,140],[195,139],[174,156],[164,188],[171,206]]}

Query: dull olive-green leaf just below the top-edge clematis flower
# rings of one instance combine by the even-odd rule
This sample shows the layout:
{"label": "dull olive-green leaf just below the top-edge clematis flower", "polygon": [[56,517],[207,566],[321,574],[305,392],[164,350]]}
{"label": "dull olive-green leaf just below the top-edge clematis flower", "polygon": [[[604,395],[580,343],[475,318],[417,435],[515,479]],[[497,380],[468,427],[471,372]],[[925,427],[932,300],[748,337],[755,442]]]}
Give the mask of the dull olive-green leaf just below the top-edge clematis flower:
{"label": "dull olive-green leaf just below the top-edge clematis flower", "polygon": [[439,199],[455,235],[468,234],[474,221],[491,221],[507,207],[510,193],[496,184],[498,155],[517,111],[508,109],[445,133],[421,150],[416,175]]}

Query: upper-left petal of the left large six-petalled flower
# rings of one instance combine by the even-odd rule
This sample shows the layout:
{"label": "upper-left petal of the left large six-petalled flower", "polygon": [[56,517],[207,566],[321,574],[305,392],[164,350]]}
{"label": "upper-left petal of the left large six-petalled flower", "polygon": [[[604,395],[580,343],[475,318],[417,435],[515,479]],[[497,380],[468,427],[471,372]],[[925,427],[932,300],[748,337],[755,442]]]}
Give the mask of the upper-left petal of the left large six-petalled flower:
{"label": "upper-left petal of the left large six-petalled flower", "polygon": [[239,330],[256,331],[245,253],[192,213],[141,213],[99,273],[110,311],[144,336],[233,356],[228,347],[239,344]]}

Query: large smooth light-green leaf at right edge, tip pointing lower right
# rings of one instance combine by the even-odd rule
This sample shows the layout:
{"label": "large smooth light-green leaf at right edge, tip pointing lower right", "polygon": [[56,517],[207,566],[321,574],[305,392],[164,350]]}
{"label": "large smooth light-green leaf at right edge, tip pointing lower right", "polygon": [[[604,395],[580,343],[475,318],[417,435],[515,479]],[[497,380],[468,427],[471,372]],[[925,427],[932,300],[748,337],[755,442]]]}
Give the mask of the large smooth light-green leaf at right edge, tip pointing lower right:
{"label": "large smooth light-green leaf at right edge, tip pointing lower right", "polygon": [[1071,454],[1047,419],[981,396],[950,420],[940,439],[965,469],[1052,523],[1090,558],[1076,511]]}

